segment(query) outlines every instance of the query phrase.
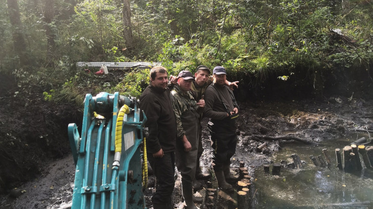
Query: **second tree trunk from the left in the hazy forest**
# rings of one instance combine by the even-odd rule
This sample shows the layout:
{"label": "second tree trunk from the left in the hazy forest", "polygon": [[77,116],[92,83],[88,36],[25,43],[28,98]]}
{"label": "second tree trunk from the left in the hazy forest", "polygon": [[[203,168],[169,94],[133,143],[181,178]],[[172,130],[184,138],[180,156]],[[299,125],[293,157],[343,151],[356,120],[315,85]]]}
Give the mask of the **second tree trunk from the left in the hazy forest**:
{"label": "second tree trunk from the left in the hazy forest", "polygon": [[45,12],[44,12],[44,21],[45,21],[45,34],[47,37],[47,66],[52,66],[52,58],[54,57],[55,52],[55,34],[52,30],[53,24],[52,20],[54,18],[54,0],[45,1]]}

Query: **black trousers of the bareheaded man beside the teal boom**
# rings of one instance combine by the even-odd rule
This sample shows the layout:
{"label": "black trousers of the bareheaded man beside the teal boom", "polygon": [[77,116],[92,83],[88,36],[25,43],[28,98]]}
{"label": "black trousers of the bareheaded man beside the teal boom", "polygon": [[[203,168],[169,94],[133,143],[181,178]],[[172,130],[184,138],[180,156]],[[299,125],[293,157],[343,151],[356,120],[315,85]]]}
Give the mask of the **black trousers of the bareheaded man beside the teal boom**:
{"label": "black trousers of the bareheaded man beside the teal boom", "polygon": [[164,153],[161,158],[154,158],[151,153],[148,153],[148,161],[157,178],[156,191],[152,197],[153,204],[171,203],[175,185],[175,153]]}

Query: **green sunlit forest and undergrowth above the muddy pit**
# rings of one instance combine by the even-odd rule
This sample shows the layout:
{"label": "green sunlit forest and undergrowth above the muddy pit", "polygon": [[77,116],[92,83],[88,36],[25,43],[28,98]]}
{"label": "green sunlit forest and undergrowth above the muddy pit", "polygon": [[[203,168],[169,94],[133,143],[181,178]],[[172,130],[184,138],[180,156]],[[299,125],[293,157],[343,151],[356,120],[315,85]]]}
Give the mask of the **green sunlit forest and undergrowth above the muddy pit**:
{"label": "green sunlit forest and undergrowth above the muddy pit", "polygon": [[13,74],[20,91],[79,104],[85,93],[139,96],[149,78],[134,69],[120,80],[95,79],[77,61],[161,62],[170,74],[222,65],[229,80],[251,89],[241,98],[272,91],[322,97],[325,89],[350,96],[347,89],[356,88],[369,94],[372,3],[3,0],[0,72]]}

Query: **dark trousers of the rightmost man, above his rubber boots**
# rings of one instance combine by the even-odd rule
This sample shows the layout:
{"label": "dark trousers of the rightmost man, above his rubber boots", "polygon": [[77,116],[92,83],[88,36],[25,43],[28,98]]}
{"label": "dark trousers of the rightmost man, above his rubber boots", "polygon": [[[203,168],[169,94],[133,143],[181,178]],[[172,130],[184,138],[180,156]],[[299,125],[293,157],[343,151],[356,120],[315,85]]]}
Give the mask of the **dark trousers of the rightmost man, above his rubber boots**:
{"label": "dark trousers of the rightmost man, above his rubber boots", "polygon": [[230,158],[236,152],[237,136],[222,135],[219,133],[210,132],[212,148],[214,149],[214,171],[223,170],[223,166],[230,164]]}

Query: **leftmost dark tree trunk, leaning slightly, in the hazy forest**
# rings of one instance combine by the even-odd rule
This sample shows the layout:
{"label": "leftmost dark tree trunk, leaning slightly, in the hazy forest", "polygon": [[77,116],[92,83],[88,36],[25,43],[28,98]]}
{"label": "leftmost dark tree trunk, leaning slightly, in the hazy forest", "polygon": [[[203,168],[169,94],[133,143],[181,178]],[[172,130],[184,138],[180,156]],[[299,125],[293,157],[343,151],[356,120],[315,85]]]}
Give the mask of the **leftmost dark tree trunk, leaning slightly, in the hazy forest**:
{"label": "leftmost dark tree trunk, leaning slightly, in the hazy forest", "polygon": [[9,18],[12,24],[12,36],[15,54],[19,56],[21,66],[28,64],[26,44],[23,35],[21,15],[17,0],[7,0]]}

